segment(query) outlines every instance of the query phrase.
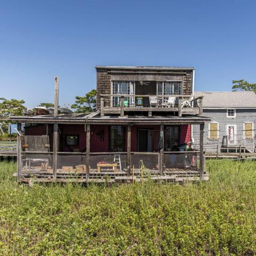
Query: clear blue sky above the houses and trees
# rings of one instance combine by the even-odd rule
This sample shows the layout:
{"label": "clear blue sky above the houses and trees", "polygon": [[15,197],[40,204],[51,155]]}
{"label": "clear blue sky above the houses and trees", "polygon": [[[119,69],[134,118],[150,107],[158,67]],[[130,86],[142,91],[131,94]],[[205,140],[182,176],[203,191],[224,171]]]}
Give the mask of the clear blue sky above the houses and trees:
{"label": "clear blue sky above the houses and trees", "polygon": [[195,67],[195,90],[256,82],[256,1],[0,0],[0,97],[60,104],[95,88],[95,65]]}

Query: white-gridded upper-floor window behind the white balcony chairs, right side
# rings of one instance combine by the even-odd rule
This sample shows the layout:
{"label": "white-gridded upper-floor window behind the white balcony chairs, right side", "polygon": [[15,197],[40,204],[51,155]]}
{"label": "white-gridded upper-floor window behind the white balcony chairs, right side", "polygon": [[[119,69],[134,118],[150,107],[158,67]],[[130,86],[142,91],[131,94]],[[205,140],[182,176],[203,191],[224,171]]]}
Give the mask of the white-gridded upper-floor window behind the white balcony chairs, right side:
{"label": "white-gridded upper-floor window behind the white balcony chairs, right side", "polygon": [[182,82],[157,82],[157,94],[158,95],[181,95],[182,94]]}

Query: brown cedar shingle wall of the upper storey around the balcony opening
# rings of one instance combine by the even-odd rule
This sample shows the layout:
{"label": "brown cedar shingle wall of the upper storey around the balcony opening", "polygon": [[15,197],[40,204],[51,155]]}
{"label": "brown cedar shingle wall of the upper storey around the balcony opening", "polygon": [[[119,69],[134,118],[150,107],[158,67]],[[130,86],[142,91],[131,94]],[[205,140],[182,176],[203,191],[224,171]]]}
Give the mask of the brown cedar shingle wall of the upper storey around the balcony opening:
{"label": "brown cedar shingle wall of the upper storey around the balcony opening", "polygon": [[[108,73],[114,71],[115,73]],[[118,73],[118,71],[127,73]],[[97,109],[100,108],[100,94],[111,94],[111,81],[182,81],[183,94],[190,95],[192,92],[192,70],[139,70],[138,74],[131,74],[132,69],[97,69]],[[148,72],[161,72],[161,74],[149,74]],[[143,74],[145,72],[145,74]],[[175,74],[168,74],[168,73]],[[166,73],[166,74],[165,74]],[[180,73],[180,74],[178,74]],[[186,74],[184,74],[186,73]],[[136,89],[135,89],[136,90]],[[110,97],[105,97],[105,105],[110,106]]]}

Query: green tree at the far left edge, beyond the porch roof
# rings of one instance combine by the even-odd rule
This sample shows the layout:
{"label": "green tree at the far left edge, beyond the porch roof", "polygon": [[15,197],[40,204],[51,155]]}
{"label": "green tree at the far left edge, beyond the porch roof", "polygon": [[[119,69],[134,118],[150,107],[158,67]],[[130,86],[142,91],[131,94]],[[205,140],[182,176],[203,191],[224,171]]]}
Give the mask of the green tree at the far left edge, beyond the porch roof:
{"label": "green tree at the far left edge, beyond the porch roof", "polygon": [[[23,111],[26,109],[23,104],[25,100],[0,98],[0,122],[3,124],[4,132],[8,130],[9,120],[6,120],[9,116],[22,116]],[[3,119],[1,121],[1,119]]]}

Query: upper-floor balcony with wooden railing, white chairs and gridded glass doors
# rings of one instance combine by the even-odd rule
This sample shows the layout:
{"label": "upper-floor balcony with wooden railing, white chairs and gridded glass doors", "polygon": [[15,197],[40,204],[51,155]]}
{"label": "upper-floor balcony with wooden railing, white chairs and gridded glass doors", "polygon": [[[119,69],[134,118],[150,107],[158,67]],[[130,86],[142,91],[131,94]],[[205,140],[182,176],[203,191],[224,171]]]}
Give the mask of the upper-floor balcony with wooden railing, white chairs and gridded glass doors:
{"label": "upper-floor balcony with wooden railing, white chairs and gridded glass doors", "polygon": [[111,81],[111,94],[100,94],[101,116],[127,111],[168,111],[178,116],[201,115],[202,97],[183,94],[182,81]]}

